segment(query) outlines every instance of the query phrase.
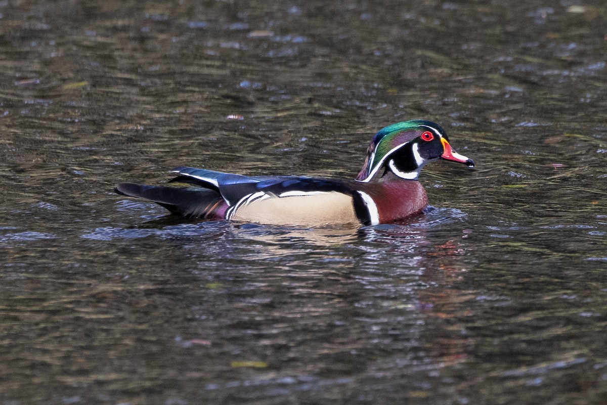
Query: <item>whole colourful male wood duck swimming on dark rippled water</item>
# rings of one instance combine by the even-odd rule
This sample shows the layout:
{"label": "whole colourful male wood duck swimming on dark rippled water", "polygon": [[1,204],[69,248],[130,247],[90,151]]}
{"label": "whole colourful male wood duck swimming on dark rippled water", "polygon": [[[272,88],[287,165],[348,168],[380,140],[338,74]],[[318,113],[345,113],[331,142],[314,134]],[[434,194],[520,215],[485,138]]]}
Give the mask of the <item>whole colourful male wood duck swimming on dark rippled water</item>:
{"label": "whole colourful male wood duck swimming on dark rippled water", "polygon": [[420,214],[428,205],[417,181],[428,162],[444,159],[474,167],[455,152],[443,128],[424,120],[387,126],[371,140],[355,180],[254,176],[178,167],[170,182],[194,187],[121,183],[118,194],[143,197],[174,214],[267,225],[366,226]]}

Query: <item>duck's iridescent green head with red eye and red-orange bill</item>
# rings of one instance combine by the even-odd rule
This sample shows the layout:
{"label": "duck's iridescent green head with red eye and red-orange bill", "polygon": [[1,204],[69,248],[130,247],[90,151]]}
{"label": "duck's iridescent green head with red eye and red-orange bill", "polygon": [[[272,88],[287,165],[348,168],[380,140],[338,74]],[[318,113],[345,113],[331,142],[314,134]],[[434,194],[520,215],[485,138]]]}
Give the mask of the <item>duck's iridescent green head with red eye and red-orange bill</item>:
{"label": "duck's iridescent green head with red eye and red-orange bill", "polygon": [[388,172],[402,179],[417,180],[426,163],[438,159],[474,167],[472,159],[451,148],[447,134],[438,124],[425,120],[402,121],[375,134],[356,180],[369,182]]}

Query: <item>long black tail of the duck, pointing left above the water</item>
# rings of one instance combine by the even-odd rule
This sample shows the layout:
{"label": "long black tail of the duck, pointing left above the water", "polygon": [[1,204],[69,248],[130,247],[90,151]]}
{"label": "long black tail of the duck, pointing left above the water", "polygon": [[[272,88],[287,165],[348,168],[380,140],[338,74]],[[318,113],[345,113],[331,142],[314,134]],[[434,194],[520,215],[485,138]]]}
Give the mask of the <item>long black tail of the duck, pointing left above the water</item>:
{"label": "long black tail of the duck, pointing left above the water", "polygon": [[141,197],[153,201],[171,213],[190,218],[205,218],[222,205],[219,192],[212,189],[189,187],[146,186],[135,183],[120,183],[114,191],[123,196]]}

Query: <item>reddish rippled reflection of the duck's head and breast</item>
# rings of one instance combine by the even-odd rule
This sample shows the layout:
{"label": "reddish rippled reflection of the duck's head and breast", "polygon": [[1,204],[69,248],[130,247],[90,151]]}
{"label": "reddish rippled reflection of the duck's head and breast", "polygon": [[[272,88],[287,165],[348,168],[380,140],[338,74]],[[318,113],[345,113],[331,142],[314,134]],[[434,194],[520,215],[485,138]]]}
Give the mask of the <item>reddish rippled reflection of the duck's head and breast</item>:
{"label": "reddish rippled reflection of the duck's head and breast", "polygon": [[[461,321],[472,315],[467,303],[478,295],[461,288],[467,271],[461,260],[467,255],[462,240],[466,241],[467,234],[436,240],[436,230],[418,222],[374,229],[366,236],[368,241],[389,245],[401,254],[402,263],[418,276],[407,283],[415,293],[406,308],[422,322],[418,344],[427,359],[441,367],[464,361],[472,341],[466,338]],[[376,259],[382,260],[379,256]]]}

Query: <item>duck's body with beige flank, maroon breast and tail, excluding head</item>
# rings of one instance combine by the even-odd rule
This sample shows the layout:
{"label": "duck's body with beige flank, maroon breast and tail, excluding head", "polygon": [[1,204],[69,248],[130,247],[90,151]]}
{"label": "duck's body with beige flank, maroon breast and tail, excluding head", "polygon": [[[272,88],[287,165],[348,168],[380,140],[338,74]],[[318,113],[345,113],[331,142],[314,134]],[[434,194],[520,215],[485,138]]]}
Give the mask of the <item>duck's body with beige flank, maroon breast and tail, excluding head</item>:
{"label": "duck's body with beige flank, maroon breast and tail, excluding head", "polygon": [[428,205],[419,182],[396,176],[392,179],[392,175],[361,183],[295,176],[245,177],[195,168],[172,171],[179,175],[175,181],[198,187],[122,183],[116,190],[154,201],[186,217],[268,225],[376,225],[419,214]]}

